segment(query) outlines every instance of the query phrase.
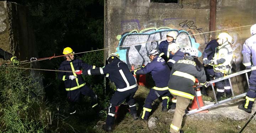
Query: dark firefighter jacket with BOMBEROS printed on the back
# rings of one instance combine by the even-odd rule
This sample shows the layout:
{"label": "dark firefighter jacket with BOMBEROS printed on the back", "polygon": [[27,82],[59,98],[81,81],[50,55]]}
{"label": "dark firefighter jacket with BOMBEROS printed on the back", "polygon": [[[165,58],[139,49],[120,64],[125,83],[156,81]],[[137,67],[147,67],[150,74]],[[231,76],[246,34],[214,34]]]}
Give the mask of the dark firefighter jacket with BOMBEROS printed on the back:
{"label": "dark firefighter jacket with BOMBEROS printed on the back", "polygon": [[205,71],[203,69],[198,71],[193,57],[186,56],[184,59],[178,60],[172,67],[168,82],[169,91],[177,96],[193,99],[193,86],[196,78],[199,83],[205,83]]}

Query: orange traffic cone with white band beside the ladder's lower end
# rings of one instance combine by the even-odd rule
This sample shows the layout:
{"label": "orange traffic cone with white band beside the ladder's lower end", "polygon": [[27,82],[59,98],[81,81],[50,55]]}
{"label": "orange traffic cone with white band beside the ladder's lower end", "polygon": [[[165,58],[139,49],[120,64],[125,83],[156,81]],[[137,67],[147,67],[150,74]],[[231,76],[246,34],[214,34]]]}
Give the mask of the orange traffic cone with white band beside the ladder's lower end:
{"label": "orange traffic cone with white band beside the ladder's lower end", "polygon": [[[204,106],[200,88],[197,88],[197,89],[196,89],[196,94],[197,94],[197,99],[198,99],[198,102],[199,102],[199,106],[200,106],[200,107]],[[199,109],[199,108],[198,108],[198,105],[197,105],[196,97],[194,97],[193,103],[191,104],[190,108],[188,108],[188,109],[189,109],[189,110]],[[197,112],[197,113],[203,113],[203,112],[209,112],[209,110],[206,109],[206,110],[203,110],[203,111],[199,111],[199,112]]]}

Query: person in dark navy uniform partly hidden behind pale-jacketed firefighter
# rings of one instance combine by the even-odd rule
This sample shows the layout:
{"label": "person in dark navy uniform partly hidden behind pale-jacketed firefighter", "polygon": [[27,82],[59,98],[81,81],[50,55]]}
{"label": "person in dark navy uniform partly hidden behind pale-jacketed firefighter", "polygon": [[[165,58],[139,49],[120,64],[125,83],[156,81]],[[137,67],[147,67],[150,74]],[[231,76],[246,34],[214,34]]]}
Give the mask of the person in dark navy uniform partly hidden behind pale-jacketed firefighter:
{"label": "person in dark navy uniform partly hidden behind pale-jacketed firefighter", "polygon": [[[203,60],[212,60],[217,50],[217,47],[218,47],[217,39],[211,40],[204,48]],[[213,66],[204,64],[204,71],[206,72],[206,80],[207,81],[213,80],[214,78]],[[203,95],[207,95],[207,88],[202,87],[201,93]]]}

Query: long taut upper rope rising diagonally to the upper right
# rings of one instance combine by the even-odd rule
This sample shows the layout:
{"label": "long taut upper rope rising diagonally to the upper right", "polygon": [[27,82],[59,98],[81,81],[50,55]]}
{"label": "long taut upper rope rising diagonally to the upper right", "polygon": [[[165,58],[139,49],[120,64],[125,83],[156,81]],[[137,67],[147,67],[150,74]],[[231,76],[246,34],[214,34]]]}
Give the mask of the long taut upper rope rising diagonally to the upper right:
{"label": "long taut upper rope rising diagonally to the upper right", "polygon": [[[176,38],[179,38],[179,37],[186,37],[186,36],[193,36],[193,35],[201,35],[201,34],[206,34],[206,33],[212,33],[212,32],[223,31],[223,30],[230,30],[230,29],[236,29],[236,28],[243,28],[243,27],[249,27],[249,26],[252,26],[252,25],[246,25],[246,26],[240,26],[240,27],[222,29],[222,30],[215,30],[215,31],[209,31],[209,32],[198,33],[198,34],[191,34],[191,35],[185,35],[185,36],[178,36],[178,37],[176,37]],[[164,41],[164,40],[166,40],[166,39],[153,40],[153,41],[146,41],[146,42],[139,42],[139,43],[135,43],[135,44],[131,44],[131,45],[126,45],[126,47],[127,47],[127,46],[137,45],[137,44],[144,44],[144,43],[147,43],[147,42]],[[108,47],[108,48],[102,48],[102,49],[99,49],[99,50],[91,50],[91,51],[85,51],[85,52],[74,53],[74,54],[81,54],[81,53],[95,52],[95,51],[101,51],[101,50],[108,50],[108,49],[118,48],[118,47],[123,47],[123,46]],[[68,54],[68,55],[69,55],[69,54]],[[24,60],[24,61],[21,61],[21,64],[30,63],[30,62],[37,62],[37,61],[46,60],[46,59],[49,59],[49,60],[50,60],[50,59],[52,59],[52,58],[58,58],[58,57],[63,57],[63,56],[67,56],[67,54],[66,54],[66,55],[62,55],[62,56],[55,56],[55,54],[54,54],[54,56],[52,56],[52,57],[40,58],[40,59],[37,59],[36,61]],[[10,63],[5,63],[5,64],[10,64]]]}

